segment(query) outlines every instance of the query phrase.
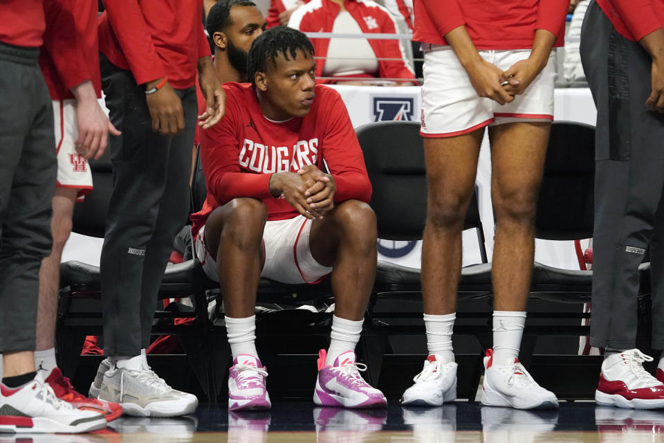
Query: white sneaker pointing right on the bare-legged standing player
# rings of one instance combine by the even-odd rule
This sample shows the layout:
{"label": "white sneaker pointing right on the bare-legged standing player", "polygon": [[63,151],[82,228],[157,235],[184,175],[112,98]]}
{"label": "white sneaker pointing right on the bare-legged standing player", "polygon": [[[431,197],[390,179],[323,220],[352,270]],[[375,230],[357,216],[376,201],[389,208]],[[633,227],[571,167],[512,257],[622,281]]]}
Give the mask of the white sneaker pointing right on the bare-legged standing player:
{"label": "white sneaker pointing right on the bare-legged standing player", "polygon": [[515,409],[558,407],[555,394],[538,385],[519,359],[493,361],[493,350],[487,350],[484,368],[482,404]]}

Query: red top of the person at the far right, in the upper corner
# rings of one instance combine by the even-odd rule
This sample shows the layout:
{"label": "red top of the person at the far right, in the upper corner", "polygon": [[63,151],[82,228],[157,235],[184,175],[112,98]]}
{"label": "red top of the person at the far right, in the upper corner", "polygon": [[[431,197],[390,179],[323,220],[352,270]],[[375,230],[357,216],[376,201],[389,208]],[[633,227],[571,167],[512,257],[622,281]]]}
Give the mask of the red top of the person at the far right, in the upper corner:
{"label": "red top of the person at the far right, in the upper corner", "polygon": [[664,24],[664,0],[597,0],[614,28],[638,42]]}

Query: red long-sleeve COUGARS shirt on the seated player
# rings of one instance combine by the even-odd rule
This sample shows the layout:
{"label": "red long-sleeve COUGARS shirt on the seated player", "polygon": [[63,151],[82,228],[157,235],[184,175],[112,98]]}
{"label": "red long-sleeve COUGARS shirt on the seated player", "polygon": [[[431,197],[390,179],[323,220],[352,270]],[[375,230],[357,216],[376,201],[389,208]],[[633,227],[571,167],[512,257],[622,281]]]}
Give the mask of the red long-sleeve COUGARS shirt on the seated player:
{"label": "red long-sleeve COUGARS shirt on the seated player", "polygon": [[237,197],[260,199],[268,220],[297,216],[286,199],[268,189],[276,172],[297,172],[304,165],[324,164],[333,175],[335,201],[369,201],[371,183],[358,138],[346,105],[334,89],[316,85],[315,99],[306,116],[282,123],[265,118],[250,84],[226,83],[226,114],[203,132],[201,160],[208,198],[192,215],[192,232],[198,233],[217,206]]}

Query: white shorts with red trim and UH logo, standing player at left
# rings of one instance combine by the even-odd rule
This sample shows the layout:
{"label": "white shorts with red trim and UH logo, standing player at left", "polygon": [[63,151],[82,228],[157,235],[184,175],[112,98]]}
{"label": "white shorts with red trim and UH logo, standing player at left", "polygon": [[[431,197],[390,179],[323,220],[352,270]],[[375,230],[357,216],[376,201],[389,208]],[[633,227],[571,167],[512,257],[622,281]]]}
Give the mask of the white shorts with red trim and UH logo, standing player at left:
{"label": "white shorts with red trim and UH logo, standing player at left", "polygon": [[78,138],[75,100],[53,100],[55,117],[55,149],[59,188],[77,189],[77,200],[92,192],[92,172],[88,161],[77,154],[74,141]]}

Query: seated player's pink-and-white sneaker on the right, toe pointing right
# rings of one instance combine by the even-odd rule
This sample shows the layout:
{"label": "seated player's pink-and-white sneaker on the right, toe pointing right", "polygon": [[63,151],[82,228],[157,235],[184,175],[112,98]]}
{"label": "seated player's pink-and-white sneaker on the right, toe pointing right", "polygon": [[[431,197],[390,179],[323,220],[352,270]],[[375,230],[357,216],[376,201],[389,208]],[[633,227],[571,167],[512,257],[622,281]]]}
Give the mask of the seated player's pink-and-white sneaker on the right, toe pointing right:
{"label": "seated player's pink-and-white sneaker on the right, toe pointing right", "polygon": [[318,352],[318,378],[313,402],[320,406],[344,406],[344,408],[380,408],[387,406],[387,399],[380,390],[367,383],[360,371],[367,366],[356,363],[355,352],[347,351],[337,357],[333,366],[326,366],[327,352]]}

